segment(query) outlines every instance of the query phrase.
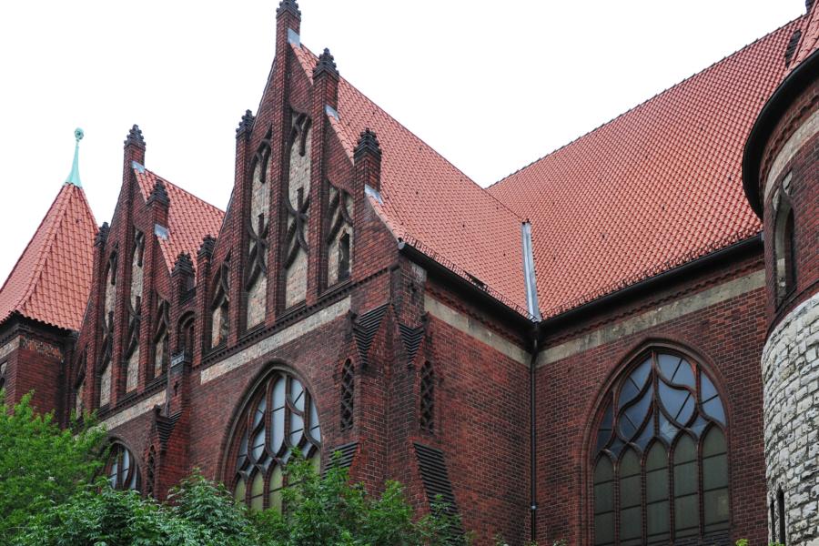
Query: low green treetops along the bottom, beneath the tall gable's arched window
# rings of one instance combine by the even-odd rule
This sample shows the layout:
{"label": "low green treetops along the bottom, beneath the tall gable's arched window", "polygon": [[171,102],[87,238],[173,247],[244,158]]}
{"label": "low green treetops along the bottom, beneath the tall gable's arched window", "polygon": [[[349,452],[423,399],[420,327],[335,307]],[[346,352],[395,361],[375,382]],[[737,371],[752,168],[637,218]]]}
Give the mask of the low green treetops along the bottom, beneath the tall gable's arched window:
{"label": "low green treetops along the bottom, beneath the tall gable's arched window", "polygon": [[458,521],[441,513],[415,518],[396,482],[380,496],[350,484],[346,470],[322,477],[307,461],[288,464],[293,485],[286,511],[251,513],[221,484],[197,471],[172,490],[167,503],[105,480],[67,501],[52,503],[28,521],[16,546],[443,546],[453,544]]}

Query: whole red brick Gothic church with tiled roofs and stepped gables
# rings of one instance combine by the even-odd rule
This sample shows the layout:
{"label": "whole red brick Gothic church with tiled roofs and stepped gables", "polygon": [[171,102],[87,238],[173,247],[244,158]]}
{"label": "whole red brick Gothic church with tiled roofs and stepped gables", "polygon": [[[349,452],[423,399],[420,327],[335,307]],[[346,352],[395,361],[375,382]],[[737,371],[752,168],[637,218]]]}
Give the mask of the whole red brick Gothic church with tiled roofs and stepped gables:
{"label": "whole red brick Gothic church with tiled roofs and stepped gables", "polygon": [[[819,544],[819,7],[483,189],[276,13],[227,211],[128,132],[0,290],[0,384],[118,488],[280,508],[317,468],[478,544]],[[261,68],[261,67],[260,67]],[[550,542],[551,543],[551,542]]]}

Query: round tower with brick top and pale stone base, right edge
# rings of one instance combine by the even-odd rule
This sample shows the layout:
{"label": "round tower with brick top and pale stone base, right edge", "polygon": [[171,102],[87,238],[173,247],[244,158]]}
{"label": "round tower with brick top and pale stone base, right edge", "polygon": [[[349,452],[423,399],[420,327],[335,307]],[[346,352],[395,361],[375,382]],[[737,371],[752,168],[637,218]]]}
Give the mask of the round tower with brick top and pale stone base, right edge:
{"label": "round tower with brick top and pale stone base, right edge", "polygon": [[794,24],[787,76],[743,157],[763,219],[768,335],[762,355],[771,540],[819,546],[819,9]]}

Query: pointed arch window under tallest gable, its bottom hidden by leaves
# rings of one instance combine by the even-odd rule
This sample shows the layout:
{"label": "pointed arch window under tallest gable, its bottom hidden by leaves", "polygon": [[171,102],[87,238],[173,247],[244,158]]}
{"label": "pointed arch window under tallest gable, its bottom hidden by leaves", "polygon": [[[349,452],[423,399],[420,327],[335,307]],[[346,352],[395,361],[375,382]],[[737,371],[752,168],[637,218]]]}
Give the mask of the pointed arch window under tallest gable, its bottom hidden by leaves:
{"label": "pointed arch window under tallest gable, its bottom hidden by leaves", "polygon": [[231,440],[233,492],[252,511],[281,510],[283,471],[293,450],[321,464],[319,410],[304,385],[284,370],[261,381],[240,414]]}

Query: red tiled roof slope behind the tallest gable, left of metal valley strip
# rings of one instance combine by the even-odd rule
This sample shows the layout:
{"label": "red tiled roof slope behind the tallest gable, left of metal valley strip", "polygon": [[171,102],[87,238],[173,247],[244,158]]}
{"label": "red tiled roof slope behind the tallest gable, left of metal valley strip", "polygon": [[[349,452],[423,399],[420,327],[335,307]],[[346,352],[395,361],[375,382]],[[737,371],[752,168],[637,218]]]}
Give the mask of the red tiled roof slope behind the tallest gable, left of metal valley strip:
{"label": "red tiled roof slope behind the tallest gable, left of metal valley strip", "polygon": [[[292,48],[312,79],[318,58],[304,46]],[[338,111],[330,125],[349,157],[365,128],[378,136],[382,202],[370,201],[393,235],[464,278],[480,279],[495,298],[525,314],[521,217],[344,78]]]}

